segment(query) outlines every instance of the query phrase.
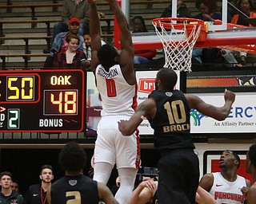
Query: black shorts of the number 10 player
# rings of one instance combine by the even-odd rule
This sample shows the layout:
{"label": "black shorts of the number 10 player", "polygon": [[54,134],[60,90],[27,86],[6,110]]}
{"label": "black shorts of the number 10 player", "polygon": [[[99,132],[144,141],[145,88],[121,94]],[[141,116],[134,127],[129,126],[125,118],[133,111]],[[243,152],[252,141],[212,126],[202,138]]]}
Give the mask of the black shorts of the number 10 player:
{"label": "black shorts of the number 10 player", "polygon": [[193,149],[164,151],[158,162],[159,204],[195,203],[199,160]]}

